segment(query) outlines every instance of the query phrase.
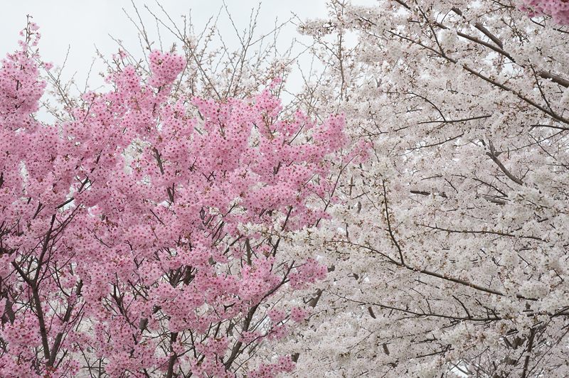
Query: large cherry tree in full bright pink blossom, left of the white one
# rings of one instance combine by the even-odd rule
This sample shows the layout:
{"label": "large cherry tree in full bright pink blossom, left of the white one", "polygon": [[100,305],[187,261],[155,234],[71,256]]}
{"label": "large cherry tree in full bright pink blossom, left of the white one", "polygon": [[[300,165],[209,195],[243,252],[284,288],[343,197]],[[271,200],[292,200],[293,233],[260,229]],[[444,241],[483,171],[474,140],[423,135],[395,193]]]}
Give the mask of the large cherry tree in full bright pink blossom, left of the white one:
{"label": "large cherry tree in full bright pink blossom, left of the white one", "polygon": [[329,217],[331,161],[358,152],[342,152],[344,117],[284,114],[279,77],[194,97],[186,58],[152,50],[147,72],[119,51],[109,90],[60,93],[48,124],[42,76],[61,87],[38,26],[22,36],[0,70],[0,375],[290,372],[268,346],[307,311],[280,299],[327,269],[280,241]]}

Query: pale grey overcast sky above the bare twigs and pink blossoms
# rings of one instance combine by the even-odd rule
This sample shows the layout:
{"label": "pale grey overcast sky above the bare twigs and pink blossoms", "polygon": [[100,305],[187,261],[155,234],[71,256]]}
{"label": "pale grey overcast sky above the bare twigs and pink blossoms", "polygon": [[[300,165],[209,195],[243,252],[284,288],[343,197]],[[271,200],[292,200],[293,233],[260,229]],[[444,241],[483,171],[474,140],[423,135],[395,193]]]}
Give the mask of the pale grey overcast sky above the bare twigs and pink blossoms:
{"label": "pale grey overcast sky above the bare twigs and pink blossoms", "polygon": [[[228,9],[240,30],[248,26],[250,11],[256,8],[258,0],[226,0]],[[373,0],[356,0],[358,4],[371,4]],[[144,23],[147,24],[151,38],[156,38],[154,21],[144,6],[159,13],[159,7],[154,0],[135,1],[141,11]],[[192,22],[196,31],[200,31],[208,18],[215,16],[222,0],[161,0],[160,4],[172,16],[174,21],[181,21],[181,15],[188,15],[191,11]],[[3,4],[3,18],[0,23],[0,54],[5,55],[17,48],[18,31],[26,25],[26,14],[33,16],[33,21],[40,26],[42,34],[40,50],[43,60],[61,65],[65,53],[70,46],[70,54],[64,77],[70,77],[75,71],[78,83],[85,81],[85,76],[92,58],[95,55],[95,45],[105,56],[117,51],[117,44],[110,36],[124,41],[131,46],[135,53],[142,55],[138,48],[137,30],[125,16],[122,9],[134,15],[130,1],[122,0],[15,0]],[[301,19],[326,16],[326,0],[264,0],[261,1],[260,18],[258,20],[258,33],[267,33],[275,25],[275,18],[285,21],[292,13]],[[233,28],[227,18],[221,18],[218,24],[220,33],[234,35]],[[167,33],[163,33],[167,34]],[[289,43],[292,38],[298,37],[293,25],[282,30],[281,43]],[[164,40],[167,36],[162,35]],[[141,57],[142,58],[142,57]],[[102,65],[95,65],[95,73],[102,71]],[[97,80],[95,77],[94,80]],[[92,85],[95,83],[91,83]],[[98,85],[98,83],[97,83]],[[95,85],[96,86],[96,85]]]}

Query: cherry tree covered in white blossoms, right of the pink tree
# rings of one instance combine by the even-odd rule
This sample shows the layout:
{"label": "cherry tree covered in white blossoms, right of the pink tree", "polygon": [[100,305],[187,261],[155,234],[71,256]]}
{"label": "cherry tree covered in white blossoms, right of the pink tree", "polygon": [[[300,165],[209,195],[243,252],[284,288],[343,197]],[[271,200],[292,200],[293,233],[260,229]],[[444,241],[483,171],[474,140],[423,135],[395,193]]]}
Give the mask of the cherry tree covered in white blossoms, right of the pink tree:
{"label": "cherry tree covered in white blossoms, right of the pink tree", "polygon": [[301,26],[326,74],[299,102],[373,145],[308,235],[333,271],[282,345],[301,376],[569,374],[569,29],[522,6],[331,1]]}

